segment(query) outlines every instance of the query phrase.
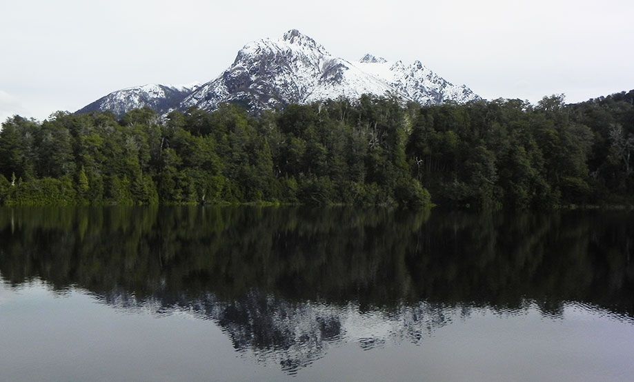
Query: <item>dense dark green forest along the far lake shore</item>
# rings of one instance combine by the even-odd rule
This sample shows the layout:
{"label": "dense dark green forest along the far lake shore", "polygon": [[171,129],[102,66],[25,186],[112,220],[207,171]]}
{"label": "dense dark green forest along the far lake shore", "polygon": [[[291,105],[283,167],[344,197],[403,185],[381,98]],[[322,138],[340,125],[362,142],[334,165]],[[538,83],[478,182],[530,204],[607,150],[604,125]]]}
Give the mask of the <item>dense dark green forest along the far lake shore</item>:
{"label": "dense dark green forest along the far lake shore", "polygon": [[634,91],[572,105],[57,112],[3,123],[0,203],[631,204],[633,152]]}

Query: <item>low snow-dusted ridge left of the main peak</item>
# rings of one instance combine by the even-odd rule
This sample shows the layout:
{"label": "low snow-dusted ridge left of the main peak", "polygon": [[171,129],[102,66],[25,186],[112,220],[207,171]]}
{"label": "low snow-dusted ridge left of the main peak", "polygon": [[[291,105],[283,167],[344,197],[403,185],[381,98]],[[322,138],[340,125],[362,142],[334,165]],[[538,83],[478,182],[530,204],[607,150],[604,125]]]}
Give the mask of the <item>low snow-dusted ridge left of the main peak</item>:
{"label": "low snow-dusted ridge left of the main peak", "polygon": [[160,84],[148,84],[117,90],[101,97],[97,101],[86,105],[78,113],[86,112],[113,112],[117,117],[137,108],[151,108],[159,114],[164,114],[178,108],[181,102],[191,94],[199,83],[185,86],[170,86]]}

